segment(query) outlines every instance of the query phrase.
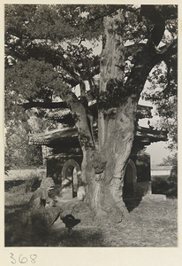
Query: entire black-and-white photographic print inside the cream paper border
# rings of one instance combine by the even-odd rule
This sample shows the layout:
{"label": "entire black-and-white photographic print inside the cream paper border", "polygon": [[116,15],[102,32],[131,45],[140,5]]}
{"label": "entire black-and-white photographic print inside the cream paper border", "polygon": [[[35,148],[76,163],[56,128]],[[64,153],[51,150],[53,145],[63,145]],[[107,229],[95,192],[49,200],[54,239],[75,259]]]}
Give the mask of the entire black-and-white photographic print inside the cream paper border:
{"label": "entire black-and-white photographic print inside the cream paper border", "polygon": [[178,4],[4,4],[3,90],[4,247],[178,247]]}

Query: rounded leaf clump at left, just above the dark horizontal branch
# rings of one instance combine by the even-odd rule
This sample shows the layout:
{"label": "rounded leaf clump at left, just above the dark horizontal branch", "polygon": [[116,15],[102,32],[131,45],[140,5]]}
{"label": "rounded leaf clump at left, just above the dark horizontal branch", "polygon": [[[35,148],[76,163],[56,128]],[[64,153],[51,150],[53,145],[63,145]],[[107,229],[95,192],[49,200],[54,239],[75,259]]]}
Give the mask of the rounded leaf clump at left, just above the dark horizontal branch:
{"label": "rounded leaf clump at left, just above the dark horizontal branch", "polygon": [[48,63],[35,59],[18,61],[16,66],[5,71],[5,91],[14,91],[22,96],[22,100],[48,100],[48,94],[51,96],[57,79],[57,72]]}

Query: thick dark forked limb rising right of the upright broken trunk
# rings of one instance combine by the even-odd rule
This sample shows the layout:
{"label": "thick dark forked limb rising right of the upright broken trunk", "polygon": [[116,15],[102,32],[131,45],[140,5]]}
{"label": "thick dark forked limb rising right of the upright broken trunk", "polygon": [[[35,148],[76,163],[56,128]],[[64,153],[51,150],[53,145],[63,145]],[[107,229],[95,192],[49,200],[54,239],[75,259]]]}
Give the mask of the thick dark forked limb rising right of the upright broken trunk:
{"label": "thick dark forked limb rising right of the upright broken trunk", "polygon": [[170,47],[162,47],[161,52],[155,49],[160,43],[165,29],[163,15],[155,9],[155,5],[142,5],[141,14],[146,19],[151,20],[155,26],[151,31],[148,43],[135,55],[133,59],[135,64],[125,82],[125,90],[130,91],[137,98],[140,98],[140,92],[143,90],[143,86],[152,68],[162,60],[168,59],[172,53],[177,53],[177,40],[174,40]]}

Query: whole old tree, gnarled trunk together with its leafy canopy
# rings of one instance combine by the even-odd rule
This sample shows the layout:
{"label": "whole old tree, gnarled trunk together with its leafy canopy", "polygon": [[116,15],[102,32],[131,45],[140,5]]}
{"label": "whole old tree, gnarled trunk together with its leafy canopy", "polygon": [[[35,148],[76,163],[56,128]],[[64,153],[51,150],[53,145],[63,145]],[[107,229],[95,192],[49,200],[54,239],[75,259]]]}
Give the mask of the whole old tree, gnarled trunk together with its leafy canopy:
{"label": "whole old tree, gnarled trunk together with its leafy canopy", "polygon": [[[10,125],[18,108],[19,121],[33,107],[71,109],[93,216],[122,220],[125,167],[147,82],[161,90],[146,97],[163,116],[173,115],[177,20],[173,4],[5,5],[5,121]],[[95,52],[98,45],[102,53]],[[98,109],[97,141],[90,100]]]}

